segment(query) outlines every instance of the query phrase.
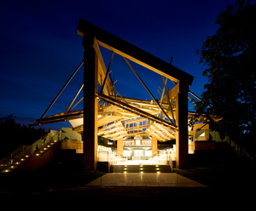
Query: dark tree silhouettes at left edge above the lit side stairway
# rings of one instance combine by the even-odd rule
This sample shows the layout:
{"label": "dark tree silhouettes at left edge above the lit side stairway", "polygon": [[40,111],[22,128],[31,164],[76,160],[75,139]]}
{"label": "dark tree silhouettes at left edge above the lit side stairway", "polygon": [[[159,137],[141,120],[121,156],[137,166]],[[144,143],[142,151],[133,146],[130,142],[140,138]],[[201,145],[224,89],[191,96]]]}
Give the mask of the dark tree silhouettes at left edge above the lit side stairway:
{"label": "dark tree silhouettes at left edge above the lit side stairway", "polygon": [[32,145],[45,134],[44,128],[31,128],[15,122],[13,114],[0,118],[0,158],[20,145]]}

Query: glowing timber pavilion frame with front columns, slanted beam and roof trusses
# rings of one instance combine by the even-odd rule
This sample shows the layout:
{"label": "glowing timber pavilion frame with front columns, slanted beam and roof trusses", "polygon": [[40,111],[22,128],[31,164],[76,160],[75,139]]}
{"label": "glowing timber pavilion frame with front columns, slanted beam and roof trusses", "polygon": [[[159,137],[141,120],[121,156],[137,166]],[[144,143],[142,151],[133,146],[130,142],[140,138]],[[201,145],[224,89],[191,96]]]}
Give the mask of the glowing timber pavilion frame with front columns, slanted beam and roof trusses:
{"label": "glowing timber pavilion frame with front columns, slanted beam and roof trusses", "polygon": [[[84,60],[76,71],[84,65],[84,82],[86,82],[79,88],[78,94],[84,88],[84,97],[73,104],[78,96],[76,94],[70,106],[67,106],[67,111],[45,117],[49,108],[73,78],[75,71],[35,124],[68,120],[74,130],[84,131],[84,168],[86,169],[96,169],[98,135],[122,141],[125,136],[136,134],[148,134],[154,140],[160,141],[176,139],[177,168],[185,168],[188,163],[188,93],[194,77],[86,20],[79,20],[77,31],[83,37]],[[108,48],[113,54],[121,55],[141,83],[143,83],[142,78],[137,75],[129,60],[160,74],[164,84],[163,88],[160,88],[161,92],[159,91],[160,99],[155,99],[144,83],[143,86],[152,100],[121,96],[114,88],[115,82],[109,77],[113,54],[107,69],[99,45]],[[167,79],[175,83],[171,90],[166,88]],[[98,83],[101,90],[98,90]],[[82,100],[84,109],[73,110]],[[132,123],[133,127],[130,127]]]}

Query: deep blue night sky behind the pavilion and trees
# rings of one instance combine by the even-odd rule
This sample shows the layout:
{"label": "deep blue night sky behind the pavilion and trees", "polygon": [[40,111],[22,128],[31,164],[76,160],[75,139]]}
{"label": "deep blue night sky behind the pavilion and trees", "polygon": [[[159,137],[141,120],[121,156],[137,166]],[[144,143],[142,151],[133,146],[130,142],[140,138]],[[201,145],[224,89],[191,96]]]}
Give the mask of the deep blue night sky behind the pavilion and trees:
{"label": "deep blue night sky behind the pavilion and trees", "polygon": [[[253,1],[254,2],[254,1]],[[195,77],[190,90],[201,95],[207,78],[196,49],[217,30],[219,13],[234,0],[181,1],[19,1],[0,2],[0,117],[14,114],[20,123],[41,117],[55,95],[83,60],[79,19],[143,48]],[[108,67],[111,52],[102,48]],[[156,97],[163,87],[160,75],[131,65]],[[118,55],[111,76],[115,88],[127,97],[151,100],[134,73]],[[83,83],[83,68],[46,116],[65,111]],[[172,88],[169,80],[167,87]],[[81,108],[81,107],[78,107]],[[189,103],[189,110],[193,106]],[[26,121],[25,121],[26,120]],[[66,124],[51,124],[59,128]]]}

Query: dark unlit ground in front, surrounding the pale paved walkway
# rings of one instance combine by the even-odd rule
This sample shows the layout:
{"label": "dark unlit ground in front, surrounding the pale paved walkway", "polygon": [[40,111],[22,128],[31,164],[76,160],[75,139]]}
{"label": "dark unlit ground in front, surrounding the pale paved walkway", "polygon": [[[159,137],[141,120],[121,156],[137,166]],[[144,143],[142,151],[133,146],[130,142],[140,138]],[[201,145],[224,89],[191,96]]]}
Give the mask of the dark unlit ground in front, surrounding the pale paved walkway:
{"label": "dark unlit ground in front, surrounding the pale paved walkway", "polygon": [[253,167],[174,169],[174,172],[208,187],[86,186],[106,173],[49,164],[32,172],[0,174],[0,202],[17,205],[15,200],[21,200],[39,202],[40,206],[51,202],[51,206],[58,208],[91,203],[102,206],[104,202],[146,202],[147,205],[148,202],[149,205],[150,202],[164,202],[160,207],[177,202],[184,206],[207,203],[217,207],[224,202],[236,207],[251,204],[256,196]]}

